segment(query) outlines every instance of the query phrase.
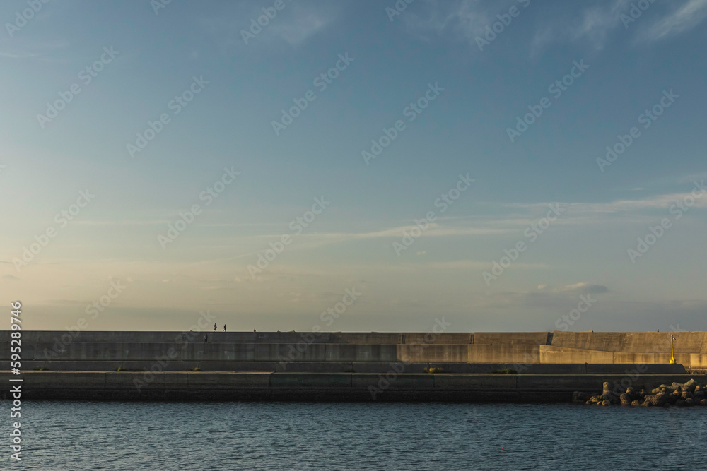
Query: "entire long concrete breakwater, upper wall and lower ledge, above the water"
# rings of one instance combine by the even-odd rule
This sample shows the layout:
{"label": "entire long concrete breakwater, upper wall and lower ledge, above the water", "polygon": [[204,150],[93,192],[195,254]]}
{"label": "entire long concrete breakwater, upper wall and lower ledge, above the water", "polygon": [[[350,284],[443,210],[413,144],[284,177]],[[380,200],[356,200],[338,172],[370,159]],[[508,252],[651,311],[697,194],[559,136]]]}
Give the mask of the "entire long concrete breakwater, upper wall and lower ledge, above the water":
{"label": "entire long concrete breakwater, upper wall and lower ledge, above the water", "polygon": [[37,399],[570,402],[607,381],[653,390],[705,371],[703,332],[23,331],[21,375],[0,381]]}

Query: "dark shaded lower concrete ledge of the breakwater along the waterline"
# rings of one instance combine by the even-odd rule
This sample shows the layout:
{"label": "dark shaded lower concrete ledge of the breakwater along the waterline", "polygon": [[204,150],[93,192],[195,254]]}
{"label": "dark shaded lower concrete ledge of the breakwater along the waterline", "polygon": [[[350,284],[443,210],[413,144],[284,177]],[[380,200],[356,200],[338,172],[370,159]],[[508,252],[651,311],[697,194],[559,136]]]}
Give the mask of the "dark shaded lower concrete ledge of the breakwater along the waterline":
{"label": "dark shaded lower concrete ledge of the breakwater along the waterline", "polygon": [[[22,382],[8,383],[8,379]],[[704,376],[689,374],[409,374],[366,373],[0,371],[20,384],[23,399],[69,400],[303,400],[571,402],[574,391],[600,393],[604,381],[652,389]],[[0,392],[10,398],[8,389]]]}

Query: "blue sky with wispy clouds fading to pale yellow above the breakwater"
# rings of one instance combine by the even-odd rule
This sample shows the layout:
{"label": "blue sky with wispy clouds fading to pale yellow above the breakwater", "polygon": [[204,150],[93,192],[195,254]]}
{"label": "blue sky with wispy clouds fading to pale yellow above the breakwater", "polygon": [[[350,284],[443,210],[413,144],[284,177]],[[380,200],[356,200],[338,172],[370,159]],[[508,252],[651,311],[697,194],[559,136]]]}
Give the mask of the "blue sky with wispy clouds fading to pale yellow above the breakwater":
{"label": "blue sky with wispy clouds fading to pale yellow above the breakwater", "polygon": [[35,330],[707,330],[707,0],[0,5]]}

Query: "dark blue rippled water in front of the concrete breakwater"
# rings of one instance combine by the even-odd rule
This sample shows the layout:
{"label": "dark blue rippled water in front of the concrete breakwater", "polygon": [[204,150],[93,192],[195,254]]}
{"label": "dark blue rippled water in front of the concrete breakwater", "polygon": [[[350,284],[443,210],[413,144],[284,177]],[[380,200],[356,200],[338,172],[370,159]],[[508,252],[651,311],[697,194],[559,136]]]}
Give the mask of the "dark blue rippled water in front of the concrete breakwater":
{"label": "dark blue rippled water in front of the concrete breakwater", "polygon": [[0,469],[707,469],[707,407],[23,401],[20,463],[2,416]]}

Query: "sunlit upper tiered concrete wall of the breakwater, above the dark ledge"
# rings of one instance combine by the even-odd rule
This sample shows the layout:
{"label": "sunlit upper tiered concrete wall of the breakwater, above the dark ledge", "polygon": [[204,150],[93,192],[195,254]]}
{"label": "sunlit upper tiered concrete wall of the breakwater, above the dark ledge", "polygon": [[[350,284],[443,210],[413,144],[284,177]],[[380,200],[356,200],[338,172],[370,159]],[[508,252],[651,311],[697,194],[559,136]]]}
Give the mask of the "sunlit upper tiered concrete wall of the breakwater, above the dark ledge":
{"label": "sunlit upper tiered concrete wall of the breakwater, above the dark ledge", "polygon": [[[22,335],[23,362],[49,369],[65,369],[62,365],[71,362],[98,362],[87,369],[137,369],[143,367],[138,366],[141,362],[156,362],[165,355],[171,355],[165,369],[175,371],[201,367],[201,362],[211,362],[209,367],[229,362],[662,364],[670,361],[671,335],[677,338],[677,362],[688,369],[707,369],[704,332],[217,332],[206,333],[207,342],[203,333],[179,332],[27,331]],[[10,332],[0,331],[0,361],[10,358],[9,340]],[[246,369],[250,366],[235,368]]]}

